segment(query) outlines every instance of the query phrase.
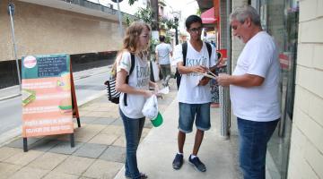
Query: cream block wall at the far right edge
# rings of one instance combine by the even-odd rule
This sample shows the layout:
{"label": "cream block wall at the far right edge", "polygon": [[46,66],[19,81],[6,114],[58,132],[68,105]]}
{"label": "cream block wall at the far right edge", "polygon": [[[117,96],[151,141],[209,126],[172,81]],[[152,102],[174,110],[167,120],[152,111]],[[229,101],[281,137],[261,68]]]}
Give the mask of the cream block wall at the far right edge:
{"label": "cream block wall at the far right edge", "polygon": [[323,178],[323,1],[300,1],[288,178]]}

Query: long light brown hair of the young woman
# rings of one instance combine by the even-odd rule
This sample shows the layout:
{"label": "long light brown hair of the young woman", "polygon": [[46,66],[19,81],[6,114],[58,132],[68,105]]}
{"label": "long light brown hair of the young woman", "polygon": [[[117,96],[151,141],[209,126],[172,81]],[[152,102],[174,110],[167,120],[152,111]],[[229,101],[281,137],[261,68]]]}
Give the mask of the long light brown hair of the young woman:
{"label": "long light brown hair of the young woman", "polygon": [[127,49],[130,53],[138,53],[138,41],[139,36],[143,32],[144,28],[151,30],[148,24],[142,21],[133,22],[126,31],[126,37],[123,40],[123,50]]}

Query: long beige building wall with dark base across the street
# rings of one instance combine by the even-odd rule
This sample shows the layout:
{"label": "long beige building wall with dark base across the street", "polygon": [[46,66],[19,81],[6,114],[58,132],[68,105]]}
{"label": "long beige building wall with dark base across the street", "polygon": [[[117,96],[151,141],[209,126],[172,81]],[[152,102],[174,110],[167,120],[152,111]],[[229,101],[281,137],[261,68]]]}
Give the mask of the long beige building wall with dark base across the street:
{"label": "long beige building wall with dark base across the street", "polygon": [[[87,0],[0,1],[0,89],[18,84],[8,14],[10,2],[14,4],[13,26],[19,62],[24,55],[69,54],[74,71],[78,71],[86,66],[111,63],[121,48],[123,37],[115,10],[117,5],[112,2],[108,5]],[[134,6],[144,3],[146,0],[141,0]]]}

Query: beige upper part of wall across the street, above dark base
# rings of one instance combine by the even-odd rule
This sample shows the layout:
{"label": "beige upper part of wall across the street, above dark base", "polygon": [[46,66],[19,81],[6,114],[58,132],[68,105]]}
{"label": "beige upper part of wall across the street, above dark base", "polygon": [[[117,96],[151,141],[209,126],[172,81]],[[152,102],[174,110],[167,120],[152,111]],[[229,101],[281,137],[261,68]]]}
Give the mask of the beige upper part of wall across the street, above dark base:
{"label": "beige upper part of wall across the street, above dark base", "polygon": [[[118,50],[118,21],[13,1],[18,58],[37,54],[82,54]],[[13,60],[8,0],[0,1],[0,61]]]}

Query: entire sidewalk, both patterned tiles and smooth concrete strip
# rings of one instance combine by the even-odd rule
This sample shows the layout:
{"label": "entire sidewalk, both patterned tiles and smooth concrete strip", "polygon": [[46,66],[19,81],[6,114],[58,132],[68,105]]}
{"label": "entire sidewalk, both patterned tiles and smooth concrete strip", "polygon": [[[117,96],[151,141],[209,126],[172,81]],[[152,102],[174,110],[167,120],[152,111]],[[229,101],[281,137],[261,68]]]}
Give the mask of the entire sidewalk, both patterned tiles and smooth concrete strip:
{"label": "entire sidewalk, both patterned tiles and smooth concrete strip", "polygon": [[[175,81],[170,93],[159,99],[164,124],[152,128],[146,120],[138,149],[138,164],[149,178],[239,178],[236,162],[236,139],[219,137],[219,109],[212,109],[213,127],[205,132],[199,157],[207,171],[200,173],[188,165],[194,134],[187,137],[185,163],[174,171],[171,162],[177,151],[178,103]],[[124,178],[126,142],[118,106],[104,95],[79,107],[81,128],[74,125],[75,147],[69,135],[28,139],[28,152],[22,150],[22,138],[0,148],[0,178]],[[233,142],[232,142],[233,141]],[[232,145],[233,144],[233,145]]]}

